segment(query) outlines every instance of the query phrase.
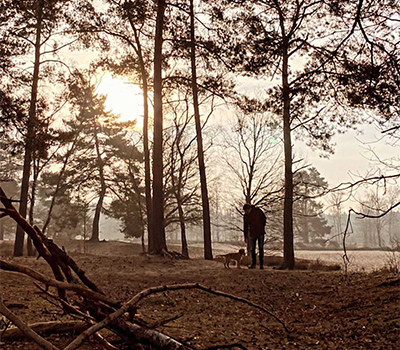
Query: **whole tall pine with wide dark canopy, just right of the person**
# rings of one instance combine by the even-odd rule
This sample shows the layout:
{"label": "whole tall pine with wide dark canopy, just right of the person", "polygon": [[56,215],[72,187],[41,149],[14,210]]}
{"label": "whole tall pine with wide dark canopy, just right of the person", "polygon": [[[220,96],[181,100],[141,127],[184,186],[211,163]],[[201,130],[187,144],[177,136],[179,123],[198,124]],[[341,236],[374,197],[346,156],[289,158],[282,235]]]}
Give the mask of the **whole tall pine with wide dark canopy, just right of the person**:
{"label": "whole tall pine with wide dark canopy, just right of the person", "polygon": [[[351,74],[349,66],[356,67],[371,57],[364,55],[368,39],[356,28],[362,32],[364,21],[371,23],[371,18],[374,24],[368,28],[370,33],[386,31],[389,22],[395,23],[392,10],[398,5],[387,5],[374,15],[370,8],[378,10],[379,5],[363,0],[356,4],[280,0],[211,4],[213,21],[221,28],[221,44],[213,51],[236,71],[268,77],[272,85],[279,85],[270,89],[264,104],[281,116],[283,125],[284,268],[294,268],[292,133],[307,136],[310,146],[331,152],[329,141],[335,132],[363,121],[362,114],[346,113],[341,108],[362,105],[350,103],[353,88],[344,80]],[[345,17],[344,13],[351,15]],[[385,41],[385,45],[391,44]],[[380,56],[380,62],[384,57]]]}

